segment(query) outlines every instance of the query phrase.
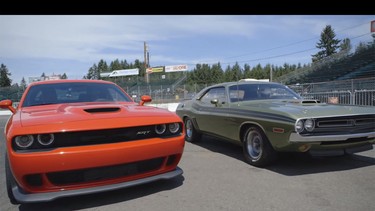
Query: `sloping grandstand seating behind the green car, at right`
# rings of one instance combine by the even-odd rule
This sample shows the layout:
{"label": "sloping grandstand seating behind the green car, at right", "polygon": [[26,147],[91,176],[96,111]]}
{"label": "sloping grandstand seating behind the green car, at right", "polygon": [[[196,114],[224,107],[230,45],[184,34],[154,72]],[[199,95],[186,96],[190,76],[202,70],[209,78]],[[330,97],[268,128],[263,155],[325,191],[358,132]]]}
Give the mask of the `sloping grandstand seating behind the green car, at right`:
{"label": "sloping grandstand seating behind the green car, at right", "polygon": [[375,44],[353,54],[340,52],[310,66],[283,75],[283,84],[315,83],[375,77]]}

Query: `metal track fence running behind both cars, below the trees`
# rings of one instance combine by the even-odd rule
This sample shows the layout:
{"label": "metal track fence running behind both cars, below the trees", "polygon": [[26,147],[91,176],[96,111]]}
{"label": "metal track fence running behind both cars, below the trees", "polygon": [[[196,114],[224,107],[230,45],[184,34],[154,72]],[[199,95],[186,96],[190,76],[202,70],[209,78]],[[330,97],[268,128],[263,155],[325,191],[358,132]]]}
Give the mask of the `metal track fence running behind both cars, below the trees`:
{"label": "metal track fence running behind both cars, below the trees", "polygon": [[[178,103],[192,99],[196,93],[212,84],[146,85],[122,88],[135,100],[150,95],[153,103]],[[325,103],[375,106],[375,78],[309,83],[289,86],[306,99]],[[0,100],[19,101],[22,92],[15,87],[0,87]]]}

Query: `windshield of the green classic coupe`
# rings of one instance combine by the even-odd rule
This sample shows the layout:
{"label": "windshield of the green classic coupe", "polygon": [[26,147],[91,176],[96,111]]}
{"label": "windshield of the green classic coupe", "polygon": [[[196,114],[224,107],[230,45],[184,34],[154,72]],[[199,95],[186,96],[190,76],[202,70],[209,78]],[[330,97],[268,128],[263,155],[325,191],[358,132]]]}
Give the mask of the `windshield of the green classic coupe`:
{"label": "windshield of the green classic coupe", "polygon": [[281,84],[238,84],[229,87],[231,102],[267,99],[301,99],[293,90]]}

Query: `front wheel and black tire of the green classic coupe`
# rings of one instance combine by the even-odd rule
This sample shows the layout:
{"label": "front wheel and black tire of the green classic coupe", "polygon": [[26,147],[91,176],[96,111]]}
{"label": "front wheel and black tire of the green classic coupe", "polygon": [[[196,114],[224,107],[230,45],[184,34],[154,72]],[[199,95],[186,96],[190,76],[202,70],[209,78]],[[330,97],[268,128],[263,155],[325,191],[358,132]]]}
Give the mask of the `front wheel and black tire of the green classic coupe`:
{"label": "front wheel and black tire of the green classic coupe", "polygon": [[264,167],[277,159],[277,152],[259,128],[249,127],[242,140],[243,154],[250,165]]}

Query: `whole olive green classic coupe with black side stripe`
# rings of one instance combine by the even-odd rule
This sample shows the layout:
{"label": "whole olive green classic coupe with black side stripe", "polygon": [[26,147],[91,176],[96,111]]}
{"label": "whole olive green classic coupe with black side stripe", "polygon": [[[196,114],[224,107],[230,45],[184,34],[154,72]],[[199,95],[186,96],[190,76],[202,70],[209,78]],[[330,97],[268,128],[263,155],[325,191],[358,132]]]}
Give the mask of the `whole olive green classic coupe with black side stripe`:
{"label": "whole olive green classic coupe with black side stripe", "polygon": [[245,160],[262,167],[278,152],[313,156],[373,149],[375,107],[304,100],[273,82],[228,82],[207,87],[176,110],[188,142],[202,134],[242,145]]}

